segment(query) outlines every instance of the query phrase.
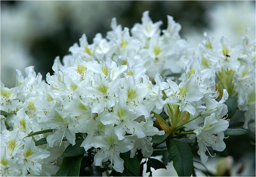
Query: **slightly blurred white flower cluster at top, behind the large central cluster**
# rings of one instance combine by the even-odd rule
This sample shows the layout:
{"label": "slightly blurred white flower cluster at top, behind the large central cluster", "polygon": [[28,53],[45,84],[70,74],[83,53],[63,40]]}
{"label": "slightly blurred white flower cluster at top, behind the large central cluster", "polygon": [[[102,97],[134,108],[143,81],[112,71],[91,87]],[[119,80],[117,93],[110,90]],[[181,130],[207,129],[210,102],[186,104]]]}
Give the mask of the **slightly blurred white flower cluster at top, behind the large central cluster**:
{"label": "slightly blurred white flower cluster at top, behind the large central cluster", "polygon": [[[70,60],[76,53],[80,53],[85,61],[100,61],[102,53],[112,56],[117,65],[126,64],[126,57],[133,59],[135,67],[144,66],[146,74],[154,78],[156,73],[181,72],[179,59],[192,48],[186,40],[181,39],[179,31],[181,25],[167,16],[167,29],[162,30],[162,21],[153,23],[149,11],[142,14],[142,24],[136,23],[129,32],[129,28],[117,25],[116,18],[111,21],[112,31],[108,31],[106,38],[100,33],[95,35],[92,44],[88,44],[85,34],[69,48],[71,55],[64,56],[64,66],[69,67]],[[161,35],[161,32],[163,35]],[[60,64],[59,58],[55,62]]]}

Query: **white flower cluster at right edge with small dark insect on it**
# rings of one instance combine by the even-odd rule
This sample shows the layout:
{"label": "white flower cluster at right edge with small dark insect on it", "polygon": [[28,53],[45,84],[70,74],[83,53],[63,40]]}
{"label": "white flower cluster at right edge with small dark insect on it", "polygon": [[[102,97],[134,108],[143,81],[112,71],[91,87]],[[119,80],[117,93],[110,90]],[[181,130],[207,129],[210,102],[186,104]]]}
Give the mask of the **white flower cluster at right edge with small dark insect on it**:
{"label": "white flower cluster at right edge with small dark insect on it", "polygon": [[244,128],[250,124],[255,131],[255,39],[248,39],[249,31],[242,37],[242,44],[234,48],[225,37],[214,48],[213,38],[204,33],[205,40],[198,45],[196,55],[204,67],[215,67],[217,89],[221,95],[225,88],[230,97],[238,97],[238,108],[245,111]]}

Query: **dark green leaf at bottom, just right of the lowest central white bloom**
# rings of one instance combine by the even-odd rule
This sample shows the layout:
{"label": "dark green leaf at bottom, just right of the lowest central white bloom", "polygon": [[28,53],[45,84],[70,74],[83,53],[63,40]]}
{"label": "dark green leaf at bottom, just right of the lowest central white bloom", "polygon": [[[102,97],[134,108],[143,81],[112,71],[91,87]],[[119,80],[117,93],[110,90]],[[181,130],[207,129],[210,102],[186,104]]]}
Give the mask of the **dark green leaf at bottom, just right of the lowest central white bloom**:
{"label": "dark green leaf at bottom, just right of the lowest central white bloom", "polygon": [[135,176],[139,176],[140,174],[140,162],[135,155],[133,158],[130,157],[131,151],[120,153],[121,159],[124,160],[124,166],[131,171]]}

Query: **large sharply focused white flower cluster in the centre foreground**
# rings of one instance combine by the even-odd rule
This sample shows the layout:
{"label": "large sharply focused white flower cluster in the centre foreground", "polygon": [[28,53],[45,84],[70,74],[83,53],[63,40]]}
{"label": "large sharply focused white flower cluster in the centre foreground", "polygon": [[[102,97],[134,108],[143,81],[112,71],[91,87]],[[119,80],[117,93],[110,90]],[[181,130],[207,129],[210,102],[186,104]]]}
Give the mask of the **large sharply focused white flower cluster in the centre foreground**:
{"label": "large sharply focused white flower cluster in the centre foreground", "polygon": [[110,159],[119,172],[124,168],[119,153],[134,147],[131,157],[137,149],[142,149],[145,157],[152,155],[150,136],[164,132],[153,127],[149,117],[155,103],[163,109],[162,94],[158,94],[159,88],[154,92],[157,88],[153,90],[146,69],[135,68],[131,58],[126,61],[127,65],[117,67],[110,55],[102,54],[98,63],[85,62],[81,54],[75,54],[73,67],[60,71],[54,63],[56,75],[47,74],[48,84],[41,83],[42,94],[35,101],[41,110],[39,126],[54,129],[47,136],[50,147],[60,145],[63,137],[74,145],[75,133],[86,133],[81,146],[86,151],[100,148],[95,165]]}

